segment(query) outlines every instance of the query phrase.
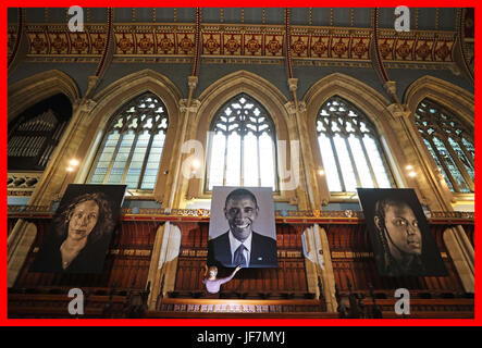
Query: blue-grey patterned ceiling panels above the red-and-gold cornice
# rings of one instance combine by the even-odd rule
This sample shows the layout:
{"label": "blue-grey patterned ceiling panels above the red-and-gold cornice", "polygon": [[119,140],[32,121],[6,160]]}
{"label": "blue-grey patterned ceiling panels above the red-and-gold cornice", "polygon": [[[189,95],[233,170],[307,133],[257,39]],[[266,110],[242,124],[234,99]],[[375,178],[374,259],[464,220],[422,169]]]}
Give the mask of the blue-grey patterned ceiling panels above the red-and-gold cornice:
{"label": "blue-grey patterned ceiling panels above the red-and-gold cornice", "polygon": [[[87,23],[106,23],[107,9],[85,8]],[[27,23],[66,23],[66,8],[28,8]],[[410,27],[421,30],[455,30],[454,8],[410,9]],[[194,8],[116,8],[115,23],[194,23]],[[9,9],[9,24],[16,23],[16,9]],[[293,25],[364,27],[371,26],[369,8],[293,8]],[[393,28],[394,8],[379,10],[379,26]],[[283,24],[281,8],[203,8],[203,23]]]}

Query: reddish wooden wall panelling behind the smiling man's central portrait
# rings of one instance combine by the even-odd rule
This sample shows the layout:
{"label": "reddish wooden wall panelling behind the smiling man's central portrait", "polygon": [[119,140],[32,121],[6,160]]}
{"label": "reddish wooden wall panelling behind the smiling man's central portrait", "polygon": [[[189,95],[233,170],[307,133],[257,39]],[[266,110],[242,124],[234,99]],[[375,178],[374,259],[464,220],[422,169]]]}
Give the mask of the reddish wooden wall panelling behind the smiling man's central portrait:
{"label": "reddish wooden wall panelling behind the smiling man's central portrait", "polygon": [[[183,231],[175,282],[176,291],[203,291],[202,275],[207,262],[208,223],[180,224]],[[286,224],[276,225],[277,268],[244,269],[222,291],[250,293],[305,293],[307,277],[301,247],[301,233]],[[219,277],[227,276],[233,269],[219,270]]]}

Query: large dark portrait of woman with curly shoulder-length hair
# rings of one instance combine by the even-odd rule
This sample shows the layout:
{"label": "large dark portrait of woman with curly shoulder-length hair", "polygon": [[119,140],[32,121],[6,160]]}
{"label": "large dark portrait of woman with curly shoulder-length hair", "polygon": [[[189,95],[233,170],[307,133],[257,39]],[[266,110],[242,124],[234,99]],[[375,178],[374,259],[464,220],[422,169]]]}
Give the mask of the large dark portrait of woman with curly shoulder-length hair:
{"label": "large dark portrait of woman with curly shoulder-length hair", "polygon": [[101,273],[125,188],[69,185],[30,272]]}

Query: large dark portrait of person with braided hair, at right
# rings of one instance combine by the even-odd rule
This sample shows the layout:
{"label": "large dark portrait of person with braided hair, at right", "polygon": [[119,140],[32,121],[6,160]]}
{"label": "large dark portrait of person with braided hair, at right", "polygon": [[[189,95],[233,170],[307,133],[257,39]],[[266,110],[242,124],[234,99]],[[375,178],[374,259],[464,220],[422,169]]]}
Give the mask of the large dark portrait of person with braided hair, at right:
{"label": "large dark portrait of person with braided hair, at right", "polygon": [[435,238],[413,189],[357,190],[381,275],[446,275]]}

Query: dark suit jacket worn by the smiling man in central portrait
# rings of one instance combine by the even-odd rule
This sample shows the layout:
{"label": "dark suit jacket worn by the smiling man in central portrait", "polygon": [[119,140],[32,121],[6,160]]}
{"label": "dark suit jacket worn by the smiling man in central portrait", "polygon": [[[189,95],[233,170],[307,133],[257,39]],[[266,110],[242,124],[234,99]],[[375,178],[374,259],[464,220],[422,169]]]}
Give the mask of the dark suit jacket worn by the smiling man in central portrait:
{"label": "dark suit jacket worn by the smiling man in central portrait", "polygon": [[[226,232],[208,243],[209,265],[235,268],[231,263],[230,232]],[[276,240],[252,232],[251,257],[249,268],[276,268]]]}

